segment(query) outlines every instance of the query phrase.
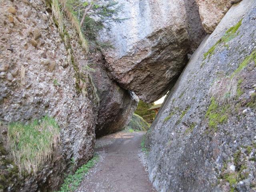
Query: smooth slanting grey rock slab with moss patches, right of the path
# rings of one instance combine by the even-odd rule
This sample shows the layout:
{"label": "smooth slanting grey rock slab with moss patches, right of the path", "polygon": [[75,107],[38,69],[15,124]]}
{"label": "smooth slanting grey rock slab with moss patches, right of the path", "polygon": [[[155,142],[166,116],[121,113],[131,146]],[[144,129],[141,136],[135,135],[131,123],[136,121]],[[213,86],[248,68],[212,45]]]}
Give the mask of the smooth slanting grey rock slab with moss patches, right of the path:
{"label": "smooth slanting grey rock slab with moss patches, right of the path", "polygon": [[194,52],[146,136],[161,192],[256,186],[256,1],[232,6]]}

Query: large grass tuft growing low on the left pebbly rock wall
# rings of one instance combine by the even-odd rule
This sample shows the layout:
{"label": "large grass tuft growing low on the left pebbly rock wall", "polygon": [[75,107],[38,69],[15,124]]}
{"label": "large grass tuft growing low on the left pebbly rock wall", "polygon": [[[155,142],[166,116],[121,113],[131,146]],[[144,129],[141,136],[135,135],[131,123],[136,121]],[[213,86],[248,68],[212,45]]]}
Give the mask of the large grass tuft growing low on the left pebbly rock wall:
{"label": "large grass tuft growing low on the left pebbly rock wall", "polygon": [[48,116],[30,124],[9,124],[8,144],[20,173],[36,174],[51,159],[59,137],[57,122]]}

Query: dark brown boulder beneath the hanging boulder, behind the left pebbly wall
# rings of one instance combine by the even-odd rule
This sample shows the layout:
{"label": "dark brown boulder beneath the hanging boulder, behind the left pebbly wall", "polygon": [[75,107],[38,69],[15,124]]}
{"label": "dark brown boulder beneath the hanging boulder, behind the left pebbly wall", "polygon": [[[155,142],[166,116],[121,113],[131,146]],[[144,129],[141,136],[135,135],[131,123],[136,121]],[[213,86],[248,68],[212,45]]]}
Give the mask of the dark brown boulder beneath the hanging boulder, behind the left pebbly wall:
{"label": "dark brown boulder beneath the hanging boulder, behind the left pebbly wall", "polygon": [[92,60],[92,79],[100,98],[95,133],[100,137],[124,129],[136,110],[138,97],[108,77],[101,54],[94,54]]}

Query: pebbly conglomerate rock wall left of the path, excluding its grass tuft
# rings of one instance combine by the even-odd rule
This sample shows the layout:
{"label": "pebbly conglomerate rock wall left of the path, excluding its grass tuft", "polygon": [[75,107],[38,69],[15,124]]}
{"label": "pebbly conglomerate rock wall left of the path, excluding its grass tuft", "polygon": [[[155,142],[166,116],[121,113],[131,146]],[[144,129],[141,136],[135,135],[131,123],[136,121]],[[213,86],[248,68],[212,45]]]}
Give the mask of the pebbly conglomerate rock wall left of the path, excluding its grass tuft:
{"label": "pebbly conglomerate rock wall left of the path, excluding its grass tuft", "polygon": [[[2,162],[11,161],[10,154],[0,155],[4,191],[56,190],[70,169],[71,158],[76,168],[94,152],[97,104],[92,87],[87,84],[86,96],[77,89],[77,71],[68,64],[64,42],[46,9],[41,0],[0,1],[0,145],[7,147],[6,127],[12,122],[29,123],[48,115],[61,129],[52,160],[36,176],[17,182],[7,174],[13,166],[7,164],[8,171],[2,170]],[[78,42],[76,33],[69,33]],[[72,46],[76,46],[72,47],[75,64],[83,65],[82,49],[78,44]],[[90,82],[87,75],[84,81]]]}

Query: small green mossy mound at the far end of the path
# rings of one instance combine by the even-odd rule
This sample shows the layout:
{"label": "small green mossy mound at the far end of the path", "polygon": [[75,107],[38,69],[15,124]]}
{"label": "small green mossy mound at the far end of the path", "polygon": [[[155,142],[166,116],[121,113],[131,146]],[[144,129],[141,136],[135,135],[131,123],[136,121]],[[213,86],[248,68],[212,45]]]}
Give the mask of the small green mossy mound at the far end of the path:
{"label": "small green mossy mound at the far end of the path", "polygon": [[126,126],[125,131],[146,131],[149,128],[149,124],[144,119],[136,114],[133,114],[129,124]]}

